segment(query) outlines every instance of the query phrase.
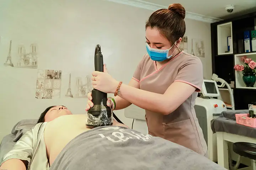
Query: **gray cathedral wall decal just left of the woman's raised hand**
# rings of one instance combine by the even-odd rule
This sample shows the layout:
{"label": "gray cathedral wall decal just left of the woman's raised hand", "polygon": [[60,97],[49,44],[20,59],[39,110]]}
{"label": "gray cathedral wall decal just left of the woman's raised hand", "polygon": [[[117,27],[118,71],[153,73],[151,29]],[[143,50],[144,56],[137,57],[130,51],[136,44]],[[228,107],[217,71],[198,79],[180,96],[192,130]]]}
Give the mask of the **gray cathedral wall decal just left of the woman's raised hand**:
{"label": "gray cathedral wall decal just left of the woman's raised hand", "polygon": [[76,89],[74,98],[87,98],[87,94],[92,91],[91,76],[76,77]]}

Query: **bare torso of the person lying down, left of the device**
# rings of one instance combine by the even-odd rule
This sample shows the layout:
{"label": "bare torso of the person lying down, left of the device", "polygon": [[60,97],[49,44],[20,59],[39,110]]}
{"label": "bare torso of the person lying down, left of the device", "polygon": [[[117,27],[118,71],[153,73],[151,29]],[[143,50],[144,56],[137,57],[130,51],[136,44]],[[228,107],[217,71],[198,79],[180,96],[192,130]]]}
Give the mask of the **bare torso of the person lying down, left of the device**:
{"label": "bare torso of the person lying down, left of the device", "polygon": [[64,115],[47,123],[44,130],[47,157],[50,166],[62,149],[86,128],[86,115]]}

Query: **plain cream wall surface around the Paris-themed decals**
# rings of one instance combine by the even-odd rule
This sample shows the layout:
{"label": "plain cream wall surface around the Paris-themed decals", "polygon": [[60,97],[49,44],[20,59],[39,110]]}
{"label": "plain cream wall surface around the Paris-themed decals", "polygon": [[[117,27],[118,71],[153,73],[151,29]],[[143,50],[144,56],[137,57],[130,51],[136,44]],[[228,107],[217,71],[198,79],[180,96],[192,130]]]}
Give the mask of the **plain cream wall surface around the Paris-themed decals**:
{"label": "plain cream wall surface around the Paris-themed decals", "polygon": [[[153,11],[102,0],[0,2],[0,140],[21,119],[36,119],[48,106],[63,104],[84,114],[86,98],[66,98],[69,73],[90,75],[94,49],[102,47],[109,73],[128,83],[145,50],[145,21]],[[204,40],[204,76],[211,75],[210,24],[186,20],[187,35]],[[61,97],[36,99],[37,69],[4,66],[12,40],[12,61],[18,45],[38,46],[38,69],[62,70]],[[208,69],[206,69],[208,68]],[[71,81],[71,89],[75,81]],[[74,92],[73,92],[74,93]],[[132,119],[115,112],[128,126]]]}

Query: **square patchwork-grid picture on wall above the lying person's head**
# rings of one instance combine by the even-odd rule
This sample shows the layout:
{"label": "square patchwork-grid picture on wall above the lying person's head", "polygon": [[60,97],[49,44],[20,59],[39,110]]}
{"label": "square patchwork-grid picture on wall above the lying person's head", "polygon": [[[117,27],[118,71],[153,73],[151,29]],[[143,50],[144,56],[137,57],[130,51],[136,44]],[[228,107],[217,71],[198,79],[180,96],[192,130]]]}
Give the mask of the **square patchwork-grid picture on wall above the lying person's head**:
{"label": "square patchwork-grid picture on wall above the lying person's head", "polygon": [[60,98],[62,71],[38,70],[36,81],[36,98]]}

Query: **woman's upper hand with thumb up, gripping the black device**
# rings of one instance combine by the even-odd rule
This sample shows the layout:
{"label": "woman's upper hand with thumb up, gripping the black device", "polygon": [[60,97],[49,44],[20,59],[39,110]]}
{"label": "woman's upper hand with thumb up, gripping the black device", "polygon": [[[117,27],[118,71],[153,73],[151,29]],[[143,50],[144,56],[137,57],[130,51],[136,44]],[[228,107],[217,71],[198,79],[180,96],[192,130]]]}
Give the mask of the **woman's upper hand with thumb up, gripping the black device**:
{"label": "woman's upper hand with thumb up, gripping the black device", "polygon": [[106,64],[103,66],[103,72],[92,72],[91,80],[92,87],[104,93],[115,93],[119,83],[108,74]]}

